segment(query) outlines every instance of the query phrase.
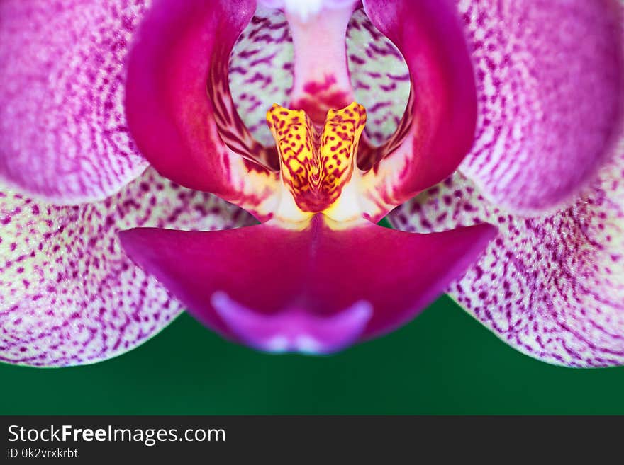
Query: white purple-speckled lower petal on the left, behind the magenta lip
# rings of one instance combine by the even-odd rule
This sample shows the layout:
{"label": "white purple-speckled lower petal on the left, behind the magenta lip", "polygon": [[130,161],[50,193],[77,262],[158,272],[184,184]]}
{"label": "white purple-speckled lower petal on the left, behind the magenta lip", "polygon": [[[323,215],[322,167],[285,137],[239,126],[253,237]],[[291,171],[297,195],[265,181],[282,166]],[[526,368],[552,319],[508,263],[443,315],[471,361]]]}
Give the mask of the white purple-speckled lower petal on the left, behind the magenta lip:
{"label": "white purple-speckled lower petal on the left, behind the magenta lip", "polygon": [[152,169],[103,202],[78,207],[0,193],[0,360],[60,367],[105,360],[152,337],[182,311],[123,253],[132,226],[218,229],[243,210]]}

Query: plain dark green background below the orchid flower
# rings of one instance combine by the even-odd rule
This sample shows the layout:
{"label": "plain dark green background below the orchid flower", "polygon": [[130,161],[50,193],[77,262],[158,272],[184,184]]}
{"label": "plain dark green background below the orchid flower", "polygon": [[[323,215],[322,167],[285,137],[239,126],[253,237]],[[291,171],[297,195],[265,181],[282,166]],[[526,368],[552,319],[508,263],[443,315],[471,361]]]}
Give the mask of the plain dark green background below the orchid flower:
{"label": "plain dark green background below the orchid flower", "polygon": [[624,414],[624,367],[552,367],[508,348],[448,297],[330,357],[264,355],[182,315],[86,367],[0,365],[4,414]]}

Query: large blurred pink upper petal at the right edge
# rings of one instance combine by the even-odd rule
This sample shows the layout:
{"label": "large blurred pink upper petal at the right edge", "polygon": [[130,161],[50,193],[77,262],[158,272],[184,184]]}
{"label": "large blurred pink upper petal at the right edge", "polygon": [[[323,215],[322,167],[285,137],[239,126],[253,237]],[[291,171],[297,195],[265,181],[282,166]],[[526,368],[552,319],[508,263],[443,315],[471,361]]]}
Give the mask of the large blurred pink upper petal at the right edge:
{"label": "large blurred pink upper petal at the right edge", "polygon": [[619,1],[460,1],[479,122],[461,170],[492,202],[569,200],[608,156],[623,105]]}

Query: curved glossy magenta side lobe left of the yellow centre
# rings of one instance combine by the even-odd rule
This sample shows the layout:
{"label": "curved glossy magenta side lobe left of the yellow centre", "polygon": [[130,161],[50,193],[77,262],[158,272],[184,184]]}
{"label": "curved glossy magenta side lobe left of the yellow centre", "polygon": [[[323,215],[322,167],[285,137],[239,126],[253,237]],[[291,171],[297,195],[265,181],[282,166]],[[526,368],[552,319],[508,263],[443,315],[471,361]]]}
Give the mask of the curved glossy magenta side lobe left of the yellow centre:
{"label": "curved glossy magenta side lobe left of the yellow centre", "polygon": [[252,0],[155,1],[130,54],[126,114],[163,176],[267,219],[277,200],[275,149],[247,132],[228,85],[230,52],[254,11]]}

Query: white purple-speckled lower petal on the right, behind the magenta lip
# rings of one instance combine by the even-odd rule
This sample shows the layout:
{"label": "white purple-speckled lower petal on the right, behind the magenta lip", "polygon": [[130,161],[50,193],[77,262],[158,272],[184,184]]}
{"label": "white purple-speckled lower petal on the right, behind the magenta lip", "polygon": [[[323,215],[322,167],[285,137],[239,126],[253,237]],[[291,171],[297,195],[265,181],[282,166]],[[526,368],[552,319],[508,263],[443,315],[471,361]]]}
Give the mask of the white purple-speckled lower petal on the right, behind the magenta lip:
{"label": "white purple-speckled lower petal on the right, behind the magenta lip", "polygon": [[466,178],[431,188],[391,214],[430,232],[489,222],[498,237],[449,292],[499,338],[571,367],[624,364],[624,144],[572,207],[541,217],[495,207]]}

